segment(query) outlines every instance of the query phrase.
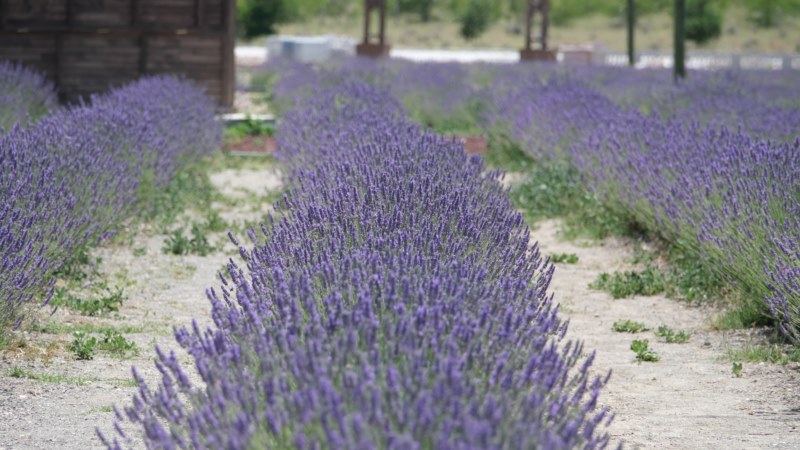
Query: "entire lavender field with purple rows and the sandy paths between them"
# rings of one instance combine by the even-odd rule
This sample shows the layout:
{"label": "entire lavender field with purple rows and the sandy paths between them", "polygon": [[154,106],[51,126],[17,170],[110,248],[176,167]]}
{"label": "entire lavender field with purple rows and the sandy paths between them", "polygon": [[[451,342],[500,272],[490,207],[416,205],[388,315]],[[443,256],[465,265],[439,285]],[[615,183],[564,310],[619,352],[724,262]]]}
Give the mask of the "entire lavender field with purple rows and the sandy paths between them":
{"label": "entire lavender field with purple rows and the sandy paths between them", "polygon": [[0,70],[0,448],[800,444],[796,73],[277,60],[237,159]]}

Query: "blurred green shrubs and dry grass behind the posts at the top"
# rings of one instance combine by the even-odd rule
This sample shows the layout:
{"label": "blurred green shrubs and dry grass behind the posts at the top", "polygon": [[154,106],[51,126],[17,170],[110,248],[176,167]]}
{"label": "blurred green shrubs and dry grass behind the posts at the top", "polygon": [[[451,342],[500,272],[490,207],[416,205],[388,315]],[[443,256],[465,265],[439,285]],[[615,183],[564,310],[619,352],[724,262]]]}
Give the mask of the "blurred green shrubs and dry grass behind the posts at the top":
{"label": "blurred green shrubs and dry grass behind the posts at the top", "polygon": [[[386,0],[395,48],[507,49],[524,43],[525,0]],[[551,0],[551,46],[625,51],[624,0]],[[637,51],[671,51],[672,0],[636,0]],[[237,0],[238,45],[266,36],[360,40],[363,0]],[[800,0],[686,0],[689,50],[800,53]]]}

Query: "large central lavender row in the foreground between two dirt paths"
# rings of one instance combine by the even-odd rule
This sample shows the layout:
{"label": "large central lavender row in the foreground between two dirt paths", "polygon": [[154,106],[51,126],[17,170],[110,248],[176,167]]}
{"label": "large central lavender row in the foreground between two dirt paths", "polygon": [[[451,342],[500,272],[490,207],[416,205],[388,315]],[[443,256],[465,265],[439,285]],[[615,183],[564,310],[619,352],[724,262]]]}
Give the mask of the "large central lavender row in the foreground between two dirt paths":
{"label": "large central lavender row in the foreground between two dirt paths", "polygon": [[298,99],[278,140],[288,193],[231,236],[214,326],[175,333],[202,383],[159,351],[109,448],[134,426],[165,449],[608,444],[605,380],[499,172],[358,80]]}

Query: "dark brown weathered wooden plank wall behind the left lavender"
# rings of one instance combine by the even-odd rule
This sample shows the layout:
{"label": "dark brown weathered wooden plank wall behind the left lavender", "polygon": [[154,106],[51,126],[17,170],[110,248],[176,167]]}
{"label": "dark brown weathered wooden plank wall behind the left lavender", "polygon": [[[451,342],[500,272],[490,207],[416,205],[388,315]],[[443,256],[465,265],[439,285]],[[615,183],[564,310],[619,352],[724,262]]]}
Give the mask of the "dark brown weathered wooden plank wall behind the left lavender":
{"label": "dark brown weathered wooden plank wall behind the left lavender", "polygon": [[65,100],[181,74],[233,104],[235,0],[0,0],[0,60],[38,68]]}

